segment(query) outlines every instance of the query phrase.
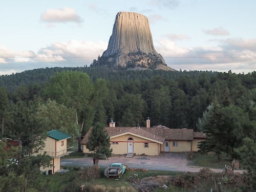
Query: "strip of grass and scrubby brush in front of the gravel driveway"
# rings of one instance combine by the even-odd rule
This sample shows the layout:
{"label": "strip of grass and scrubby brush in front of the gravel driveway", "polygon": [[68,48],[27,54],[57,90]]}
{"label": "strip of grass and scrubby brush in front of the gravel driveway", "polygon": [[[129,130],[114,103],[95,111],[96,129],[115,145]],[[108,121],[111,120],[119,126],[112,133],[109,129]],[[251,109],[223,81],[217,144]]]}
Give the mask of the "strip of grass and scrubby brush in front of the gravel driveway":
{"label": "strip of grass and scrubby brush in front of the gravel driveway", "polygon": [[[218,183],[222,183],[223,191],[242,191],[243,179],[237,175],[224,176],[220,173],[213,173],[209,169],[202,169],[198,173],[178,173],[153,171],[136,172],[128,171],[120,179],[108,179],[103,176],[103,169],[100,169],[99,178],[83,179],[79,176],[84,169],[71,170],[65,174],[40,175],[38,179],[44,186],[45,191],[83,191],[86,192],[136,192],[136,191],[209,191],[218,189]],[[77,168],[75,168],[77,169]],[[95,173],[93,173],[95,174]],[[31,188],[28,191],[39,191]]]}

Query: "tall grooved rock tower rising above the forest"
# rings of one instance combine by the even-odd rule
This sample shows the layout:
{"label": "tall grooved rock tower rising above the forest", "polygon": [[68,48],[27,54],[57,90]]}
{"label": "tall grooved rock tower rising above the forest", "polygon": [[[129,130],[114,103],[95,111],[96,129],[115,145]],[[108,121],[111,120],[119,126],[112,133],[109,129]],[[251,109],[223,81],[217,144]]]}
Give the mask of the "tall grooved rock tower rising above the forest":
{"label": "tall grooved rock tower rising above the forest", "polygon": [[147,17],[134,12],[117,13],[108,49],[98,59],[98,64],[114,68],[167,67],[154,48]]}

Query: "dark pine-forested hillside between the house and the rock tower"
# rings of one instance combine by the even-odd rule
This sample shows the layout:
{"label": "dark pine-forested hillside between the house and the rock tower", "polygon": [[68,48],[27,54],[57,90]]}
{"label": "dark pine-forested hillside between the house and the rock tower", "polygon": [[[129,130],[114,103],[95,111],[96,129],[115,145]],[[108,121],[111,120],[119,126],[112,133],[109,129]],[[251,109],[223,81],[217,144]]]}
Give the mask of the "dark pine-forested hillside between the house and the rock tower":
{"label": "dark pine-forested hillside between the house and the rock tower", "polygon": [[[152,125],[197,129],[198,118],[214,100],[227,106],[244,108],[256,101],[256,73],[234,74],[202,71],[111,71],[109,68],[46,68],[0,77],[0,86],[8,91],[10,100],[17,97],[32,100],[34,95],[45,100],[44,89],[50,77],[61,71],[82,71],[93,82],[106,80],[108,95],[95,111],[95,121],[117,126]],[[88,129],[88,127],[86,127]]]}

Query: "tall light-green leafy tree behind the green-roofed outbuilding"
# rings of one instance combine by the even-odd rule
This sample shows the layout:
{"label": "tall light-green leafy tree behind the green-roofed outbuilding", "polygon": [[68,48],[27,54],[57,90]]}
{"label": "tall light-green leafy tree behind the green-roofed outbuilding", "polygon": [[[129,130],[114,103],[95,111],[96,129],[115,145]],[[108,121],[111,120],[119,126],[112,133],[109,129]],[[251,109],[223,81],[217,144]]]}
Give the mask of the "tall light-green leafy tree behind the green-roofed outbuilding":
{"label": "tall light-green leafy tree behind the green-roofed outbuilding", "polygon": [[[76,111],[76,124],[79,133],[83,128],[89,129],[93,124],[95,106],[101,98],[106,96],[106,82],[97,79],[92,82],[89,75],[78,71],[63,71],[56,73],[46,89],[46,96],[58,103],[73,108]],[[78,137],[78,152],[81,152],[81,138]]]}

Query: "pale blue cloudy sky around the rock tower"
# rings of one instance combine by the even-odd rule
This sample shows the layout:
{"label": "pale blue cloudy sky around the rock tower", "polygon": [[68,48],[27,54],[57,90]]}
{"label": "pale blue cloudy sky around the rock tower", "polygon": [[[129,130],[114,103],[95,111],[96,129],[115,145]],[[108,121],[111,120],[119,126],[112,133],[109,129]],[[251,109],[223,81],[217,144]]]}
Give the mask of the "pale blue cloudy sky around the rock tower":
{"label": "pale blue cloudy sky around the rock tower", "polygon": [[118,12],[150,23],[167,66],[186,71],[256,71],[256,1],[8,0],[0,6],[0,75],[90,66],[108,48]]}

